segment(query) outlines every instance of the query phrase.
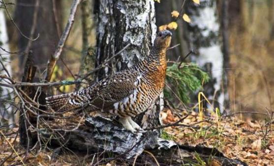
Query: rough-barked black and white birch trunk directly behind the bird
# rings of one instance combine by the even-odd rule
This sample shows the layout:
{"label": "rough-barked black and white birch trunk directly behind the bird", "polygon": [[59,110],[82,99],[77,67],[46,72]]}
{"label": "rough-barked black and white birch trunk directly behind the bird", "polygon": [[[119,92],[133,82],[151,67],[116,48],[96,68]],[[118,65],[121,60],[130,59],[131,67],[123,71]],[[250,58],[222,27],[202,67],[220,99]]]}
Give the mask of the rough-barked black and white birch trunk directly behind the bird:
{"label": "rough-barked black and white birch trunk directly behind the bird", "polygon": [[[97,79],[133,66],[149,55],[156,33],[153,0],[100,0],[95,2],[95,14],[98,21],[95,67],[129,44],[120,56],[97,72]],[[144,128],[159,125],[159,105],[163,105],[162,98],[158,106],[135,120]]]}

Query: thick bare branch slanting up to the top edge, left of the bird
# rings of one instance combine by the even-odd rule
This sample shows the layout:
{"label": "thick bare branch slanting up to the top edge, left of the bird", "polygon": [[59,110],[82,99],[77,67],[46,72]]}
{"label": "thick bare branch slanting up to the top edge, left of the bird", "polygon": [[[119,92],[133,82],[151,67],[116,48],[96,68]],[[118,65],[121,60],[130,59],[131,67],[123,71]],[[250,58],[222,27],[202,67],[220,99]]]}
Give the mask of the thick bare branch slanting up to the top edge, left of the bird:
{"label": "thick bare branch slanting up to the top edge, left of the bird", "polygon": [[66,41],[67,37],[68,37],[68,34],[70,33],[71,27],[74,23],[75,13],[76,13],[77,6],[78,6],[79,3],[80,3],[80,0],[74,0],[73,1],[72,5],[71,5],[71,8],[70,8],[70,14],[69,14],[66,26],[65,26],[65,30],[61,35],[61,38],[58,42],[58,46],[57,46],[57,49],[56,49],[55,53],[51,56],[51,59],[48,62],[48,69],[47,69],[47,74],[46,74],[46,77],[45,77],[46,81],[48,81],[48,82],[51,79],[51,76],[52,76],[54,67],[56,65],[56,62],[58,61],[58,59],[59,59],[59,57],[62,53],[63,46],[65,44],[65,41]]}

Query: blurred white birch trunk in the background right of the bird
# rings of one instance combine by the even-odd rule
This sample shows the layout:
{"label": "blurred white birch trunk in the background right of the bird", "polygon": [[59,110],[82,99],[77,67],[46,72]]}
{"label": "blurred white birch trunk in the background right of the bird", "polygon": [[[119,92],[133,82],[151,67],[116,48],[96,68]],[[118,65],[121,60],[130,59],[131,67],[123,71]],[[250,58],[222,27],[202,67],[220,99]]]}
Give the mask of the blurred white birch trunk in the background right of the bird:
{"label": "blurred white birch trunk in the background right of the bird", "polygon": [[[197,5],[188,2],[186,13],[191,18],[188,26],[189,48],[197,51],[197,56],[192,56],[191,61],[196,62],[209,72],[211,80],[204,87],[204,93],[213,103],[224,111],[224,103],[228,100],[223,77],[224,55],[220,40],[220,24],[218,22],[215,0],[201,0]],[[208,105],[208,107],[210,107]],[[212,109],[212,108],[211,108]]]}

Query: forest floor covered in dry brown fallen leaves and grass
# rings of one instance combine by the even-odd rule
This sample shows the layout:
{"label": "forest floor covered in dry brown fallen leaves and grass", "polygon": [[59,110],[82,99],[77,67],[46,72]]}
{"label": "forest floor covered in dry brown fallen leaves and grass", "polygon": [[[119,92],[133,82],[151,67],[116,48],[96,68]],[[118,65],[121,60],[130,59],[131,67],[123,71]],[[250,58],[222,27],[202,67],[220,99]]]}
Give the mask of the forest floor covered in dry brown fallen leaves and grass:
{"label": "forest floor covered in dry brown fallen leaves and grass", "polygon": [[[164,124],[178,121],[186,115],[175,116],[171,110],[161,112]],[[226,157],[240,159],[249,166],[274,166],[274,123],[272,121],[242,121],[239,114],[216,118],[215,114],[200,117],[188,113],[186,127],[168,127],[162,137],[182,145],[217,148]],[[201,122],[202,121],[202,122]],[[193,125],[195,124],[195,125]],[[92,156],[65,152],[59,156],[49,149],[34,149],[26,154],[19,146],[18,128],[0,130],[0,166],[90,166]],[[115,162],[107,166],[115,166]]]}

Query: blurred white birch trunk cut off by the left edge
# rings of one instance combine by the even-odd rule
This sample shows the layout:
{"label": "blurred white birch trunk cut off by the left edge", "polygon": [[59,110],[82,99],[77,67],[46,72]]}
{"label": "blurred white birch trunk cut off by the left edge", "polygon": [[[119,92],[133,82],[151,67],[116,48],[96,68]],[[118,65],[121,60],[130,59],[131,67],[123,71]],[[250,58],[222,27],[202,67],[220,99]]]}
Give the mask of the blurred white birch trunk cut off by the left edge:
{"label": "blurred white birch trunk cut off by the left edge", "polygon": [[[10,75],[12,74],[10,65],[10,54],[8,46],[8,35],[7,27],[5,22],[4,9],[0,9],[0,46],[5,49],[3,51],[0,49],[0,75]],[[3,67],[3,66],[4,67]],[[5,71],[6,70],[6,71]],[[7,73],[8,72],[8,73]],[[0,82],[4,82],[0,79]],[[5,83],[5,82],[4,82]],[[9,100],[13,98],[12,89],[7,87],[0,87],[0,126],[3,126],[4,119],[8,120],[9,127],[15,123],[15,115],[13,113],[13,107],[9,104]]]}

